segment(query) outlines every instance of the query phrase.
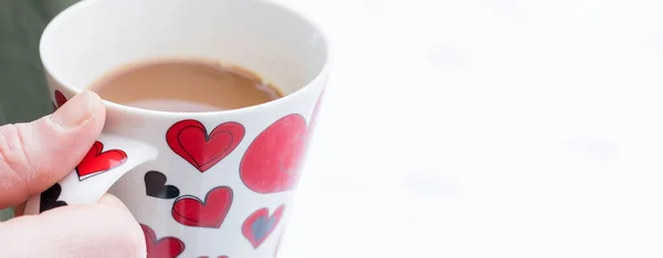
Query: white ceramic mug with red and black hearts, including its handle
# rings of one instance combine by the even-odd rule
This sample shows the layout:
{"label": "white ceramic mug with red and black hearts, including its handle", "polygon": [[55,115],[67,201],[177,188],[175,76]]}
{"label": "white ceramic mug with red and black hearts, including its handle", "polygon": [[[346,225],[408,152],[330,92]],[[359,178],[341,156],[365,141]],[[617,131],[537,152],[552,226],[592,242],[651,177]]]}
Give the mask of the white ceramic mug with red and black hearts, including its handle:
{"label": "white ceramic mug with red and black hearts, including its handle", "polygon": [[286,96],[210,112],[104,101],[98,141],[25,214],[109,192],[141,224],[149,258],[275,256],[329,71],[314,24],[261,0],[85,0],[46,26],[40,52],[54,106],[116,67],[164,57],[236,64]]}

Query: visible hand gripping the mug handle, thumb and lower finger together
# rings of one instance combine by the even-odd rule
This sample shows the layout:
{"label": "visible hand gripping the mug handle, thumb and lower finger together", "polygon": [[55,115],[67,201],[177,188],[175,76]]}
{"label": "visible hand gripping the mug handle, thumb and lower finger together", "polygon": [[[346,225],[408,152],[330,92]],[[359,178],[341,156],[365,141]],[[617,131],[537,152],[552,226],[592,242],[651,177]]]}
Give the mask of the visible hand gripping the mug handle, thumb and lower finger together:
{"label": "visible hand gripping the mug handle, thumb and lower finger together", "polygon": [[73,171],[101,133],[105,117],[101,98],[84,92],[53,115],[0,127],[0,208],[18,206],[18,217],[0,223],[0,256],[147,256],[140,226],[109,194],[96,204],[21,216],[29,196],[40,194]]}

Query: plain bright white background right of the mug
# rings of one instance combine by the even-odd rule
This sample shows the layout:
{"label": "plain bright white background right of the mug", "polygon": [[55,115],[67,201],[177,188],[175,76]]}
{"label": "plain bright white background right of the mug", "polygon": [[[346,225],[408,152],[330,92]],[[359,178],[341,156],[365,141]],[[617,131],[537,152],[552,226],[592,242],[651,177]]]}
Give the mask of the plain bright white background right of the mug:
{"label": "plain bright white background right of the mug", "polygon": [[336,51],[282,258],[663,257],[663,1],[281,1]]}

